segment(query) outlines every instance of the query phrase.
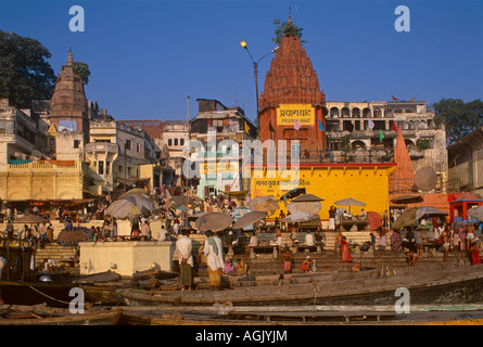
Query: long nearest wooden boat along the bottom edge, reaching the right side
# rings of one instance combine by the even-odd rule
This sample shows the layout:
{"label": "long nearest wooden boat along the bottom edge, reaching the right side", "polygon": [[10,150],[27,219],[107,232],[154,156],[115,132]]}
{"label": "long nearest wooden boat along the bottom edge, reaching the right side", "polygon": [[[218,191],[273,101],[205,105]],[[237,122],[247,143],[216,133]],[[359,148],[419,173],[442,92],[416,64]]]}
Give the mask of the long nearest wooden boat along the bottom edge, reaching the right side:
{"label": "long nearest wooden boat along the bottom edge, reaching the right side", "polygon": [[482,305],[415,306],[396,313],[392,306],[124,307],[127,325],[468,325],[483,321]]}

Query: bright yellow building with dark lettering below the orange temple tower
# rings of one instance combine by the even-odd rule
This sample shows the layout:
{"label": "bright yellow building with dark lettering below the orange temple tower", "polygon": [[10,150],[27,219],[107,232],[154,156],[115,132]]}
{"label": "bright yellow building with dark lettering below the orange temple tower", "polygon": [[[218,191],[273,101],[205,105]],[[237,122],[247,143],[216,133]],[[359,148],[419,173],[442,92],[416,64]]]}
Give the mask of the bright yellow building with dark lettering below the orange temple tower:
{"label": "bright yellow building with dark lettering below the orange temple tower", "polygon": [[[272,167],[274,168],[274,167]],[[353,197],[364,202],[366,211],[377,211],[381,216],[389,209],[389,176],[395,170],[396,164],[300,164],[298,170],[280,171],[270,166],[255,166],[251,170],[252,198],[271,195],[279,200],[293,188],[305,188],[307,194],[317,195],[323,201],[319,216],[329,219],[329,208],[334,202]],[[275,177],[271,177],[274,176]],[[298,175],[298,179],[296,179]],[[295,184],[294,184],[295,183]],[[287,213],[283,202],[280,207]],[[338,206],[336,206],[338,207]],[[344,207],[344,206],[339,206]],[[348,208],[346,206],[345,208]],[[360,213],[361,207],[353,206],[353,215]],[[278,211],[274,216],[278,216]]]}

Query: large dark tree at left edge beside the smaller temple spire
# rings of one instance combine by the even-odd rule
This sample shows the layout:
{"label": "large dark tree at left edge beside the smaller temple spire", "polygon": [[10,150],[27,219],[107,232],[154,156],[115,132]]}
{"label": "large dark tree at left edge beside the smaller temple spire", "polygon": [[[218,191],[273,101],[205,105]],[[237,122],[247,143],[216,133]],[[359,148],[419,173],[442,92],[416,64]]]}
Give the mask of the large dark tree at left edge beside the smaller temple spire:
{"label": "large dark tree at left edge beside the smaller temple spire", "polygon": [[0,30],[0,98],[18,108],[50,99],[56,79],[50,57],[39,41]]}

